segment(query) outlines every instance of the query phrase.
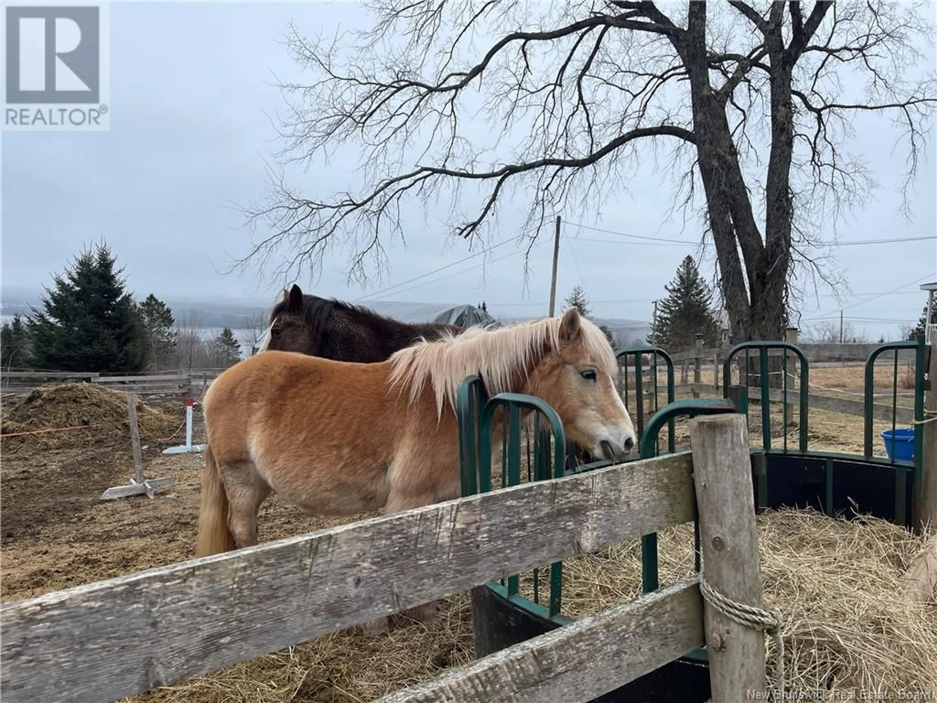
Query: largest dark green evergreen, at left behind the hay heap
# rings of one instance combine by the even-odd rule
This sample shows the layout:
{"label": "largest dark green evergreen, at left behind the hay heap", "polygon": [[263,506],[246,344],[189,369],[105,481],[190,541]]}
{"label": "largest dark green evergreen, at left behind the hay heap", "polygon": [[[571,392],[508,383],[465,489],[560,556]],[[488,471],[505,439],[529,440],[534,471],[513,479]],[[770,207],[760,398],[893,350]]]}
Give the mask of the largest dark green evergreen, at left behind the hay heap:
{"label": "largest dark green evergreen, at left behind the hay heap", "polygon": [[33,366],[124,373],[146,367],[140,313],[115,264],[110,248],[101,244],[52,277],[42,309],[26,320]]}

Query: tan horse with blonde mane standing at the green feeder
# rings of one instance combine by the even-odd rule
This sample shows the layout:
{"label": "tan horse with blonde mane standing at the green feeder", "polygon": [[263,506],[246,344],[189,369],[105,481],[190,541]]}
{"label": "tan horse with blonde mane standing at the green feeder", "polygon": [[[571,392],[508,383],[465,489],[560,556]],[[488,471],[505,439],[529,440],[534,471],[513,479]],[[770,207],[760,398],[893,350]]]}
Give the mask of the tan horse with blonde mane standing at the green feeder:
{"label": "tan horse with blonde mane standing at the green feeder", "polygon": [[[472,374],[489,396],[543,398],[593,456],[631,453],[615,352],[574,307],[497,330],[443,333],[377,364],[263,352],[224,371],[205,394],[196,555],[256,545],[258,508],[272,491],[323,516],[458,498],[455,394]],[[414,608],[414,617],[432,620],[435,605]],[[364,630],[386,627],[382,618]]]}

